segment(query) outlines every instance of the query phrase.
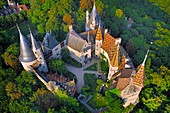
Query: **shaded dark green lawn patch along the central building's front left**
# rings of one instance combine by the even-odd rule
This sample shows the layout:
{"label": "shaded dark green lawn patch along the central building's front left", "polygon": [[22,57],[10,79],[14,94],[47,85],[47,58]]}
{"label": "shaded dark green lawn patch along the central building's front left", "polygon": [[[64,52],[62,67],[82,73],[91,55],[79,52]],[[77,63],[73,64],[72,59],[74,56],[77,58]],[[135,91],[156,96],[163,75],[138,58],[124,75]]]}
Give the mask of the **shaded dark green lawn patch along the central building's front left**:
{"label": "shaded dark green lawn patch along the central building's front left", "polygon": [[82,67],[82,64],[71,58],[70,56],[67,58],[62,58],[62,60],[66,63],[69,63],[75,67]]}

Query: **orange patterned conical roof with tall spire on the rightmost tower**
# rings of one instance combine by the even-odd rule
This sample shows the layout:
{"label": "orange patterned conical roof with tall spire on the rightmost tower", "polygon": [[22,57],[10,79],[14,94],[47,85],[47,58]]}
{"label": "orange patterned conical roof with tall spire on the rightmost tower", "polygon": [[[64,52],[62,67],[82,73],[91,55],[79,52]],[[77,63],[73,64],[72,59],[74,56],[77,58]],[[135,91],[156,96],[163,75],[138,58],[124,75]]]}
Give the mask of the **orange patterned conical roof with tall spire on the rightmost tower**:
{"label": "orange patterned conical roof with tall spire on the rightmost tower", "polygon": [[133,83],[138,85],[138,86],[144,86],[144,79],[145,79],[145,62],[148,57],[149,50],[147,51],[145,58],[143,60],[143,63],[138,66],[137,68],[137,73],[134,77]]}

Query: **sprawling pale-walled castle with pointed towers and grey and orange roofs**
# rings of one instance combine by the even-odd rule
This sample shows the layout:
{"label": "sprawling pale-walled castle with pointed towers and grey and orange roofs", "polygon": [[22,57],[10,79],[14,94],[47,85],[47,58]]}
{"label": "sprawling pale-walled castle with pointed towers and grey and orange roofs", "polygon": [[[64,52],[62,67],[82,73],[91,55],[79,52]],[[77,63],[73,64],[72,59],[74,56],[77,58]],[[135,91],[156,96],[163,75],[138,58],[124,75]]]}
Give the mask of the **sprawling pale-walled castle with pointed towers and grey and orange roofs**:
{"label": "sprawling pale-walled castle with pointed towers and grey and orange roofs", "polygon": [[[43,42],[37,42],[30,31],[28,41],[18,29],[20,34],[19,60],[26,71],[36,68],[40,72],[47,73],[46,59],[61,58],[61,49],[68,48],[70,56],[85,65],[91,58],[99,58],[104,55],[108,61],[108,80],[112,81],[113,88],[121,91],[124,99],[124,107],[138,102],[139,93],[144,86],[145,61],[134,69],[131,59],[120,45],[121,38],[114,38],[103,28],[103,23],[94,4],[92,12],[86,11],[85,32],[76,33],[72,26],[66,40],[59,43],[51,33],[46,33]],[[30,68],[31,67],[31,68]]]}

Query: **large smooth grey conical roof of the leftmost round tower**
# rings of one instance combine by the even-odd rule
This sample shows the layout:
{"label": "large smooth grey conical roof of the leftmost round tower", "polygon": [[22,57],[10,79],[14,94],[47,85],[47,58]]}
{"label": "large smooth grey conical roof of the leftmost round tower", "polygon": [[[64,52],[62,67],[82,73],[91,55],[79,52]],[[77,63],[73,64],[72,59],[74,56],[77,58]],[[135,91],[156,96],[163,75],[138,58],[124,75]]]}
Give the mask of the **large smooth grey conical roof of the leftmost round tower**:
{"label": "large smooth grey conical roof of the leftmost round tower", "polygon": [[19,60],[21,62],[31,62],[36,60],[32,50],[30,49],[28,45],[28,41],[24,37],[24,35],[21,33],[19,27],[18,27],[19,35],[20,35],[20,55]]}

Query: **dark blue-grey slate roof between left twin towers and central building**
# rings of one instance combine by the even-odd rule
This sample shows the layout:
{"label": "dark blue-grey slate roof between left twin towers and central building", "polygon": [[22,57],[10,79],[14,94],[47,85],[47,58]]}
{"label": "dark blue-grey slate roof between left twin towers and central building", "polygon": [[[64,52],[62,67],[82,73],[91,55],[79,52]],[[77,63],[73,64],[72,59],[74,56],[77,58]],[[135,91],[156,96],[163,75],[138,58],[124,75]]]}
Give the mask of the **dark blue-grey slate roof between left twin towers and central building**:
{"label": "dark blue-grey slate roof between left twin towers and central building", "polygon": [[46,33],[42,45],[46,46],[49,49],[53,49],[59,42],[55,39],[55,36],[51,33]]}

